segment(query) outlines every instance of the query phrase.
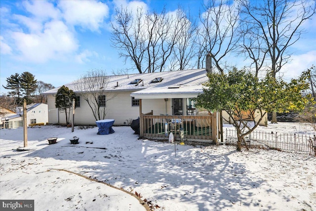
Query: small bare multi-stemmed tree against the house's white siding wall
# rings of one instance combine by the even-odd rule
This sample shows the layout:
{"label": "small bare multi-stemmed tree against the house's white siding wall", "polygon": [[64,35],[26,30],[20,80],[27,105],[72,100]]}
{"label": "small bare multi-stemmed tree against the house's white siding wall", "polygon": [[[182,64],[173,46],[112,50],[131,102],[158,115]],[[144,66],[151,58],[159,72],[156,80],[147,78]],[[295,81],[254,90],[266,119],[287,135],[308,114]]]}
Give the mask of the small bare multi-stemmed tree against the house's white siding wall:
{"label": "small bare multi-stemmed tree against the house's white siding wall", "polygon": [[103,120],[106,117],[106,104],[115,97],[106,92],[108,78],[103,70],[90,70],[76,82],[77,96],[88,103],[95,120]]}

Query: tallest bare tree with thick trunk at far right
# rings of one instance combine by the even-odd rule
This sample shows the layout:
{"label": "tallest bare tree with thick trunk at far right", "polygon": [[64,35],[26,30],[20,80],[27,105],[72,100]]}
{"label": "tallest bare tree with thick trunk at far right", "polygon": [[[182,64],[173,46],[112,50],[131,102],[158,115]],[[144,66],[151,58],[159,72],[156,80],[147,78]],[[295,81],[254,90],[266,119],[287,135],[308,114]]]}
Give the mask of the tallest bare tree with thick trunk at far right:
{"label": "tallest bare tree with thick trunk at far right", "polygon": [[[304,33],[302,25],[316,12],[311,0],[241,0],[242,48],[255,64],[256,73],[263,67],[276,78],[291,56],[289,47]],[[245,30],[246,28],[246,30]],[[250,33],[249,33],[250,32]],[[276,123],[276,112],[272,122]]]}

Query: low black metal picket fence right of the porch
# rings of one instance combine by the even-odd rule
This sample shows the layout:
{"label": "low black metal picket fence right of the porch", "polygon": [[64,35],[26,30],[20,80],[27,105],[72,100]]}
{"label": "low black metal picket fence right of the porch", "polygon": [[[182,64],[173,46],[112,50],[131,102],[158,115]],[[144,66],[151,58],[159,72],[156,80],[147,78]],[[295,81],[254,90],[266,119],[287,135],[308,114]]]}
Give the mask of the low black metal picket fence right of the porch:
{"label": "low black metal picket fence right of the porch", "polygon": [[[316,135],[253,131],[244,137],[250,148],[274,149],[316,156]],[[237,145],[236,130],[226,129],[226,145]],[[241,143],[245,145],[244,142]]]}

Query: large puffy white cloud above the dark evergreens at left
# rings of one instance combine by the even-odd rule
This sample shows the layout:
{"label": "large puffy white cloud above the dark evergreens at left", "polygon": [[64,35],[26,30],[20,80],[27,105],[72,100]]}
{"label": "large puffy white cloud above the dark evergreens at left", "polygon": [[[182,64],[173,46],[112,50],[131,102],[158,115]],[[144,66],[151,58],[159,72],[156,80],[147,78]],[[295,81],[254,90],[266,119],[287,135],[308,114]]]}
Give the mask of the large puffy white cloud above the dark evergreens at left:
{"label": "large puffy white cloud above the dark evergreens at left", "polygon": [[46,23],[43,33],[14,32],[12,38],[21,52],[21,56],[32,62],[46,62],[51,58],[63,58],[65,54],[78,49],[74,35],[61,21]]}

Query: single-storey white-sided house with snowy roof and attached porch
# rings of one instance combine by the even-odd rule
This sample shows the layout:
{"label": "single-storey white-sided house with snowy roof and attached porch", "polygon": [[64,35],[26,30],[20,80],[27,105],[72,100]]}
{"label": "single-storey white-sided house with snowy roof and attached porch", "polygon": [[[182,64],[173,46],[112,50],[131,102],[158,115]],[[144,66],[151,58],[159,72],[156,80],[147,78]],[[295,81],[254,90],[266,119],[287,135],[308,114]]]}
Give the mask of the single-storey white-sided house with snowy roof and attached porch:
{"label": "single-storey white-sided house with snowy roof and attached porch", "polygon": [[[186,139],[218,140],[218,113],[198,110],[192,100],[203,92],[202,84],[208,81],[206,73],[206,69],[194,69],[107,76],[106,119],[114,119],[116,126],[128,126],[140,117],[140,137],[167,139],[172,131],[179,138],[183,128]],[[91,108],[80,96],[82,90],[78,90],[76,83],[65,84],[77,95],[74,124],[95,126]],[[65,125],[65,113],[55,107],[59,88],[44,93],[48,122]]]}

